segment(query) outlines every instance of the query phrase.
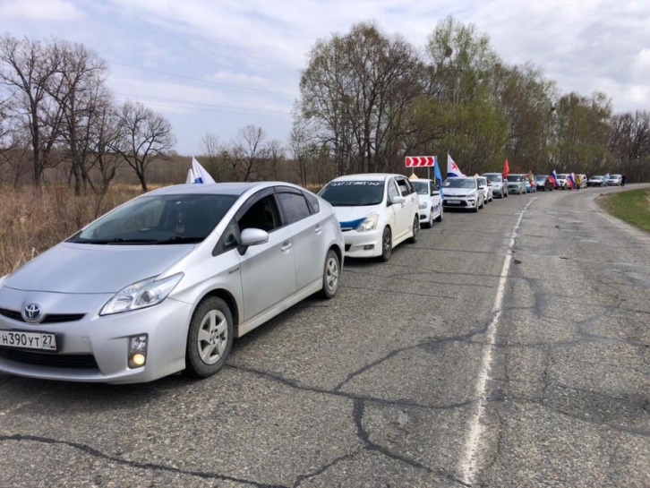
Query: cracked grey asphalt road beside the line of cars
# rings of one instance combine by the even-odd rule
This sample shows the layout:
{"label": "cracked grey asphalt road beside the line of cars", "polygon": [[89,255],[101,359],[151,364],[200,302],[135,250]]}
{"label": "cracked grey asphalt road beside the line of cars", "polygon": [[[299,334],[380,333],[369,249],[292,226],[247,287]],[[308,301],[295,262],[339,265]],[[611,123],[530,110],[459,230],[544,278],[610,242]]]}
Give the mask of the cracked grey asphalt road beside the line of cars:
{"label": "cracked grey asphalt road beside the line of cars", "polygon": [[207,381],[0,375],[0,487],[650,486],[650,235],[612,191],[448,212]]}

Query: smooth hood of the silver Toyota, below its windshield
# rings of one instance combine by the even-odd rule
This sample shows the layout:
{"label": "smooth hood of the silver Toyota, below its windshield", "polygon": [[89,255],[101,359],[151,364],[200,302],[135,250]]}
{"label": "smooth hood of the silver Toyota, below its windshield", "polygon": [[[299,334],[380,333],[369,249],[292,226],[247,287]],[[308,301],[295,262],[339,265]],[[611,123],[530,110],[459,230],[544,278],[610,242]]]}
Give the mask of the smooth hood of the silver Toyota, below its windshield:
{"label": "smooth hood of the silver Toyota, below its windshield", "polygon": [[58,244],[15,271],[8,288],[53,293],[115,293],[158,276],[192,251],[194,244]]}

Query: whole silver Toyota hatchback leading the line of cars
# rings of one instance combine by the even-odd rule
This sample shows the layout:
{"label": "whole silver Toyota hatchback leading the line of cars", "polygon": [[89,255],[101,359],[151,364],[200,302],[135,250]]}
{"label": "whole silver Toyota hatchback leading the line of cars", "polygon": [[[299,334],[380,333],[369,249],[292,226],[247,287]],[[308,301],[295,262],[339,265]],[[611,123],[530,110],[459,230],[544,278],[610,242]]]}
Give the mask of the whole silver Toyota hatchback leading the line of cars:
{"label": "whole silver Toyota hatchback leading the line of cars", "polygon": [[0,279],[0,371],[134,383],[205,378],[233,338],[336,295],[344,240],[293,184],[185,184],[124,203]]}

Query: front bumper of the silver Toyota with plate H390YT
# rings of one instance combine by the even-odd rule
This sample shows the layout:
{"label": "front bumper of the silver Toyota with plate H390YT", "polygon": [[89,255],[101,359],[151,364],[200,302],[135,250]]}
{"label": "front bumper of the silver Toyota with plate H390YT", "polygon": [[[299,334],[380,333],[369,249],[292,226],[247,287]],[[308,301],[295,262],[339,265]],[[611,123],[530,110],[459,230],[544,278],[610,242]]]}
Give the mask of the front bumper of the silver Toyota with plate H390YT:
{"label": "front bumper of the silver Toyota with plate H390YT", "polygon": [[[23,292],[4,288],[0,307],[20,310],[21,304],[29,300],[43,304],[44,310],[53,310],[52,304],[56,302],[59,302],[56,308],[70,310],[76,301],[77,310],[81,302],[86,310],[98,311],[110,296]],[[0,330],[55,334],[58,345],[56,353],[5,348],[0,351],[0,371],[60,381],[135,383],[157,380],[184,369],[191,314],[191,304],[167,298],[161,304],[138,311],[105,317],[93,312],[79,321],[60,323],[29,324],[0,315]],[[129,368],[129,338],[145,334],[148,336],[147,362],[139,368]],[[50,360],[49,355],[67,357]]]}

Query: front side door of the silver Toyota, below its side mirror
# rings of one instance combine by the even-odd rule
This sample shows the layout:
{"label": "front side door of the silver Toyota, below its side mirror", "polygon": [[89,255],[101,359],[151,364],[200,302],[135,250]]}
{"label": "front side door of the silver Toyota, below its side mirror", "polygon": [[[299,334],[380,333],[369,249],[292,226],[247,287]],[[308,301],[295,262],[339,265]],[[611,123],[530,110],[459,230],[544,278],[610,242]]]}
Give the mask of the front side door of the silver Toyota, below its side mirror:
{"label": "front side door of the silver Toyota, below its side mirror", "polygon": [[256,193],[237,212],[241,233],[245,228],[261,228],[269,233],[269,242],[240,251],[244,321],[287,301],[295,295],[295,258],[293,235],[282,219],[275,189]]}

